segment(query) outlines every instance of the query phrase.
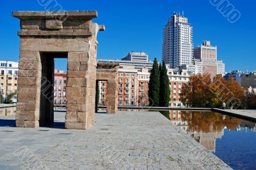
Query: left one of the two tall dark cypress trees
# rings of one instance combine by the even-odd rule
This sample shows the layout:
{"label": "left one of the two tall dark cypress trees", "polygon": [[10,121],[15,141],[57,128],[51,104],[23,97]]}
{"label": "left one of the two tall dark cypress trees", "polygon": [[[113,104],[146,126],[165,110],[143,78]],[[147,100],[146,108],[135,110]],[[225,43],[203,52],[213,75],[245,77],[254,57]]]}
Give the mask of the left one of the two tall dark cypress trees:
{"label": "left one of the two tall dark cypress trees", "polygon": [[148,84],[148,97],[150,106],[159,106],[160,73],[155,57]]}

